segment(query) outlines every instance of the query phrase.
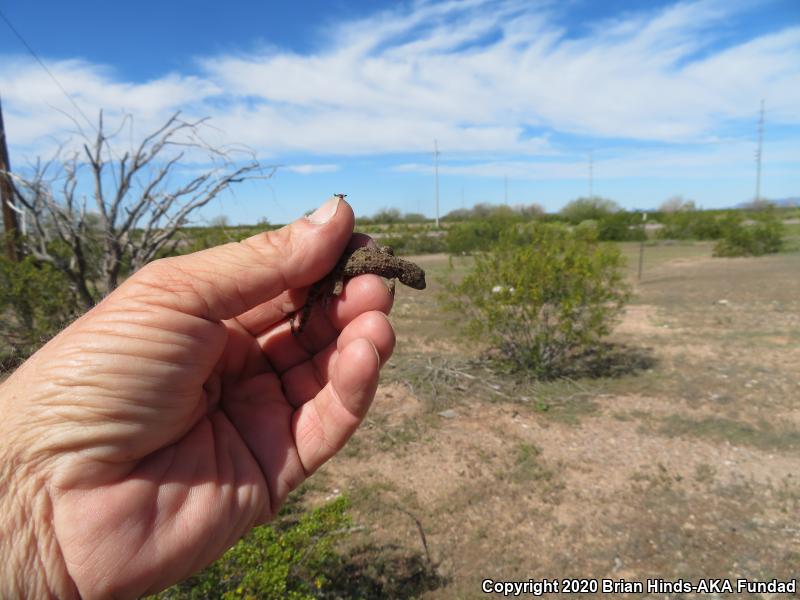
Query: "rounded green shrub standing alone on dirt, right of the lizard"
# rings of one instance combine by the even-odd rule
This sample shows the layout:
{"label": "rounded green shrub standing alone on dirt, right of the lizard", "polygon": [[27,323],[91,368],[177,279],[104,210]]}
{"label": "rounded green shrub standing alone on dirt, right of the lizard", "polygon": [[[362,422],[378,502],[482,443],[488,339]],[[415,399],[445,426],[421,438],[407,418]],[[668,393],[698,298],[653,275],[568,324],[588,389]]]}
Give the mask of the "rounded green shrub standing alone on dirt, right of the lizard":
{"label": "rounded green shrub standing alone on dirt, right of the lizard", "polygon": [[447,305],[504,366],[547,379],[611,331],[628,299],[622,265],[591,228],[516,226],[475,257]]}

